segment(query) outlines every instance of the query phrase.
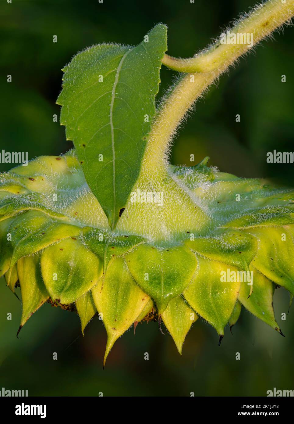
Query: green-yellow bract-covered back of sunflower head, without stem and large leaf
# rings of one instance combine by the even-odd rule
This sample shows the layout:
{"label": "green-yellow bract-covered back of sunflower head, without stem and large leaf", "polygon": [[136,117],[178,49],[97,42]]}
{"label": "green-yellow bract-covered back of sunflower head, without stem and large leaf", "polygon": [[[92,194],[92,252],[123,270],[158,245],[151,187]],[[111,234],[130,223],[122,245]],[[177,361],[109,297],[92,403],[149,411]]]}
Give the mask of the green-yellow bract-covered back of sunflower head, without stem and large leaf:
{"label": "green-yellow bract-covered back of sunflower head, without stem and large leaf", "polygon": [[[294,193],[206,162],[169,170],[210,222],[206,233],[187,228],[169,245],[111,232],[74,151],[0,174],[0,274],[12,291],[19,281],[21,326],[49,298],[75,304],[82,331],[95,314],[103,320],[105,359],[151,310],[179,352],[198,316],[223,336],[241,305],[280,332],[272,297],[275,285],[294,295]],[[176,219],[177,210],[171,213]],[[231,277],[240,271],[253,275],[253,284]]]}

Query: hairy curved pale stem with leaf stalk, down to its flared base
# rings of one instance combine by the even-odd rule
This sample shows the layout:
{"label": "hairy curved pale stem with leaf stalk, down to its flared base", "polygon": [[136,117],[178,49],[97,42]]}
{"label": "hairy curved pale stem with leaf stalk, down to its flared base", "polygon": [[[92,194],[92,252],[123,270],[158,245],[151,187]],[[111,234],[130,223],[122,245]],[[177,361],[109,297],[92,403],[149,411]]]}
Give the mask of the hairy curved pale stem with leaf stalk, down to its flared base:
{"label": "hairy curved pale stem with leaf stalk, down to its flared base", "polygon": [[[257,6],[231,30],[253,34],[252,46],[272,31],[288,22],[294,15],[294,0],[269,0]],[[150,139],[144,153],[141,174],[160,178],[166,175],[167,156],[172,136],[193,103],[230,65],[250,51],[246,44],[220,44],[191,59],[173,59],[164,56],[163,63],[184,75],[164,100],[153,123]]]}

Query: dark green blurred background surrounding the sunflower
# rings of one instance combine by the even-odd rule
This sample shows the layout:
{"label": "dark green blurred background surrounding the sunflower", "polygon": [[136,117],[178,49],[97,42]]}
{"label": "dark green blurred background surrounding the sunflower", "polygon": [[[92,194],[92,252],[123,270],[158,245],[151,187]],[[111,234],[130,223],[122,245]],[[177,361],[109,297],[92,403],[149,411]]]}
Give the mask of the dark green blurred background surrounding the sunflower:
{"label": "dark green blurred background surrounding the sunflower", "polygon": [[[61,68],[84,47],[100,42],[136,45],[155,23],[164,22],[169,54],[191,56],[253,5],[252,0],[3,0],[0,148],[28,151],[31,159],[72,147],[53,114],[59,117],[55,100]],[[286,28],[275,42],[263,42],[210,89],[175,140],[174,163],[192,165],[194,153],[196,163],[210,156],[211,165],[222,171],[294,185],[293,164],[266,163],[268,151],[294,151],[293,31]],[[281,82],[283,74],[286,83]],[[160,94],[174,75],[162,69]],[[94,319],[83,338],[77,315],[46,304],[18,340],[21,305],[3,279],[0,283],[0,388],[28,389],[31,396],[265,396],[273,387],[294,388],[294,311],[281,321],[281,313],[288,311],[282,288],[276,290],[274,303],[286,338],[243,310],[234,335],[227,329],[221,348],[214,329],[199,320],[180,357],[156,323],[139,324],[136,336],[130,330],[116,342],[102,370],[106,335],[101,321]],[[7,312],[12,321],[7,321]],[[52,359],[53,352],[58,360]]]}

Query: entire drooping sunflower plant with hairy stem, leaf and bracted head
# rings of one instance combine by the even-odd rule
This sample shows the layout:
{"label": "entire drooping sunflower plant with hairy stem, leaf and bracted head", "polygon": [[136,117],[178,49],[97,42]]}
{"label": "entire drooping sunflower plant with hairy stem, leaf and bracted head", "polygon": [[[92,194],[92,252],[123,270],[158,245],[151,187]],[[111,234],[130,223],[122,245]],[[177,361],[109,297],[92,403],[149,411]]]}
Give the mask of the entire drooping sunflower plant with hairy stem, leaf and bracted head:
{"label": "entire drooping sunflower plant with hairy stem, leaf and bracted head", "polygon": [[[272,301],[276,286],[294,294],[293,190],[168,159],[195,100],[293,14],[294,0],[267,1],[228,30],[235,42],[190,59],[166,55],[158,24],[136,47],[95,45],[64,67],[74,149],[0,174],[0,275],[20,285],[19,330],[47,301],[76,310],[82,332],[98,315],[104,362],[142,320],[163,322],[180,353],[199,317],[220,343],[242,306],[282,334]],[[162,64],[182,74],[156,109]]]}

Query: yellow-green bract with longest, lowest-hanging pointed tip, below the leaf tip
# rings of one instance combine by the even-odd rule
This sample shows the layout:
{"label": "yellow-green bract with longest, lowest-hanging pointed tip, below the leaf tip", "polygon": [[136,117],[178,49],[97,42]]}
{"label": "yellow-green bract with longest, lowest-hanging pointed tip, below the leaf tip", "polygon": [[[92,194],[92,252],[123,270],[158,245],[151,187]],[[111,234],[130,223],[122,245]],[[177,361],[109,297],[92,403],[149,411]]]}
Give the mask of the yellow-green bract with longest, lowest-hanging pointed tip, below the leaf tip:
{"label": "yellow-green bract with longest, lowest-hanging pointed tip, below the leaf tip", "polygon": [[[149,304],[147,296],[133,281],[124,259],[112,259],[108,265],[103,289],[100,284],[92,288],[98,312],[107,331],[106,358],[115,341],[133,324]],[[149,305],[148,305],[149,307]]]}

